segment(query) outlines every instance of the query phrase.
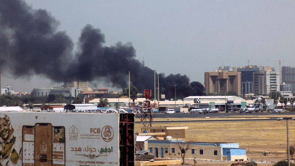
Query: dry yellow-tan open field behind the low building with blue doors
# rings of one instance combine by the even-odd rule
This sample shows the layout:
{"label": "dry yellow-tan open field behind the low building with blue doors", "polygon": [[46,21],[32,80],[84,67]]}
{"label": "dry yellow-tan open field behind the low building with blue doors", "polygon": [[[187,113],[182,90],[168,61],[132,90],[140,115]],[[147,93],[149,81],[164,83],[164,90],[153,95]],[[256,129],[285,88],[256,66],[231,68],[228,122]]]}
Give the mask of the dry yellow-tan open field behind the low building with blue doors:
{"label": "dry yellow-tan open field behind the low building with blue doors", "polygon": [[[238,142],[240,148],[246,148],[250,160],[279,161],[287,158],[286,121],[154,123],[153,126],[188,126],[187,141]],[[136,124],[135,130],[141,131],[141,125]],[[290,145],[295,145],[295,121],[289,121],[289,133]],[[270,152],[270,155],[262,155],[264,151]],[[203,162],[207,161],[199,161],[199,165]],[[259,164],[272,165],[271,163]],[[205,165],[230,164],[208,162]]]}

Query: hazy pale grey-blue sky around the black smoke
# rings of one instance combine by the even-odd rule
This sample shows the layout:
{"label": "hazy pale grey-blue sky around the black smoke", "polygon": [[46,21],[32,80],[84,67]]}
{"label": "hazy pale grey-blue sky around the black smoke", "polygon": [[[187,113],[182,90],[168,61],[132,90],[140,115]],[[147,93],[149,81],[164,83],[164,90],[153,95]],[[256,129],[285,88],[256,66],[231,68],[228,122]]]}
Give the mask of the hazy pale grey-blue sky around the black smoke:
{"label": "hazy pale grey-blue sky around the black smoke", "polygon": [[[132,42],[137,58],[161,73],[181,73],[204,82],[219,66],[295,63],[295,1],[76,1],[26,0],[60,21],[76,43],[85,24],[100,28],[105,45]],[[119,62],[118,62],[119,63]],[[115,65],[115,64],[114,64]],[[42,76],[13,79],[2,87],[27,91],[61,85]]]}

